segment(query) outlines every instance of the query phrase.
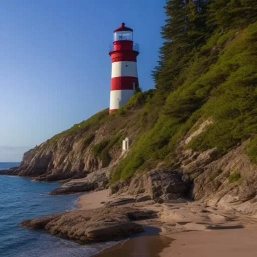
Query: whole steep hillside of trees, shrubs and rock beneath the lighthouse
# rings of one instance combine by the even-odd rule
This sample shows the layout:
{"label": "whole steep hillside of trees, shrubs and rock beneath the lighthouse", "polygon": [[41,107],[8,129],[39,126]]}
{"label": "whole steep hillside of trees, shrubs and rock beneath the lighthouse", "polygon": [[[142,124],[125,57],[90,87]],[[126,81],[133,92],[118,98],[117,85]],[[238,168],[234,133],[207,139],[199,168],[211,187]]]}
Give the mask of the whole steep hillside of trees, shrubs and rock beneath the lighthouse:
{"label": "whole steep hillside of trees, shrubs and rock beneath the lighthouse", "polygon": [[[25,153],[12,172],[45,181],[85,178],[71,192],[108,185],[116,192],[130,191],[141,173],[169,169],[188,174],[196,200],[253,199],[256,11],[253,0],[167,1],[156,89],[136,92],[115,114],[103,110],[54,136]],[[131,147],[122,155],[126,137]]]}

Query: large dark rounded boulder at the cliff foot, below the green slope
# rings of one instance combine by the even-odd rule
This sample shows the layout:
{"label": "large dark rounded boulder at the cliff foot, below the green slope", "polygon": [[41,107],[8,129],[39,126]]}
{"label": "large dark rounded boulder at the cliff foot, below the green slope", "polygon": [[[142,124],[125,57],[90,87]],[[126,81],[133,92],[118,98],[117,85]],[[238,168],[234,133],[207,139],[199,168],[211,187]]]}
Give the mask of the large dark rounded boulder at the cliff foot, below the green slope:
{"label": "large dark rounded boulder at the cliff foot, below the green slope", "polygon": [[127,191],[131,195],[148,193],[152,200],[163,203],[179,197],[188,197],[191,188],[186,173],[167,169],[153,170],[137,174],[131,182],[118,182],[111,186],[113,193]]}

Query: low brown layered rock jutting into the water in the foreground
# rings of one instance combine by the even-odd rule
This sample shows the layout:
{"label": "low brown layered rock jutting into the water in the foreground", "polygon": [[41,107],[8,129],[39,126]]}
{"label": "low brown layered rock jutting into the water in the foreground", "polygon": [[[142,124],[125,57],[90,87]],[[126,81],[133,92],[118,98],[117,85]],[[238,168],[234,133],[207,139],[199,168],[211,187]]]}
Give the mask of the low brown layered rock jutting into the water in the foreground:
{"label": "low brown layered rock jutting into the water in the foreground", "polygon": [[126,213],[133,213],[133,210],[116,207],[87,211],[75,210],[25,220],[20,226],[45,229],[53,235],[82,243],[87,241],[99,242],[120,239],[144,231],[143,227],[140,224],[133,223]]}

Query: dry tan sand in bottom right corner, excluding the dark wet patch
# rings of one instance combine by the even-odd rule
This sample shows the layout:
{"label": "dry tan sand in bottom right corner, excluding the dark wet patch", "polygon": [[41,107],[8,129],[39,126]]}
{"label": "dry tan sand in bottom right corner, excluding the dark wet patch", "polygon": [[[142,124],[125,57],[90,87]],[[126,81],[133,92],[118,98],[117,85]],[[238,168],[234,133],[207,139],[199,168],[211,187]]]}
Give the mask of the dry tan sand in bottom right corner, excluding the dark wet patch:
{"label": "dry tan sand in bottom right corner, excluding the dark wet patch", "polygon": [[[255,257],[257,228],[191,231],[172,234],[173,240],[160,257]],[[134,255],[131,255],[134,256]],[[155,255],[153,255],[155,256]]]}

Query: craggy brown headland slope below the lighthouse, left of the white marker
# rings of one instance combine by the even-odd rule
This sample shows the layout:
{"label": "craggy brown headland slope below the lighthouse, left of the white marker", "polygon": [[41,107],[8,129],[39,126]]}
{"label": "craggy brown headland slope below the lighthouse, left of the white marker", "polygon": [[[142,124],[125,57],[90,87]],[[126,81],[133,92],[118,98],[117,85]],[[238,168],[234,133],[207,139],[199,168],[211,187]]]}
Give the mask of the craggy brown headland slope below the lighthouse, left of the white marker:
{"label": "craggy brown headland slope below the lighthouse, left of the white marker", "polygon": [[[33,177],[38,181],[69,181],[86,177],[87,174],[95,172],[106,166],[100,155],[95,155],[94,146],[114,136],[120,138],[129,137],[131,143],[137,136],[138,131],[132,129],[137,122],[139,109],[130,110],[124,119],[106,119],[100,123],[100,119],[76,132],[56,135],[40,146],[37,146],[24,154],[20,167],[9,171],[1,171],[0,174]],[[107,112],[104,114],[108,116]],[[106,118],[106,116],[103,118]],[[122,129],[117,130],[117,124],[123,124]],[[85,139],[89,137],[90,140]],[[113,145],[108,149],[110,165],[115,163],[121,155],[122,148]],[[111,166],[110,166],[111,167]],[[106,171],[108,172],[108,171]],[[76,191],[76,190],[75,190]]]}

